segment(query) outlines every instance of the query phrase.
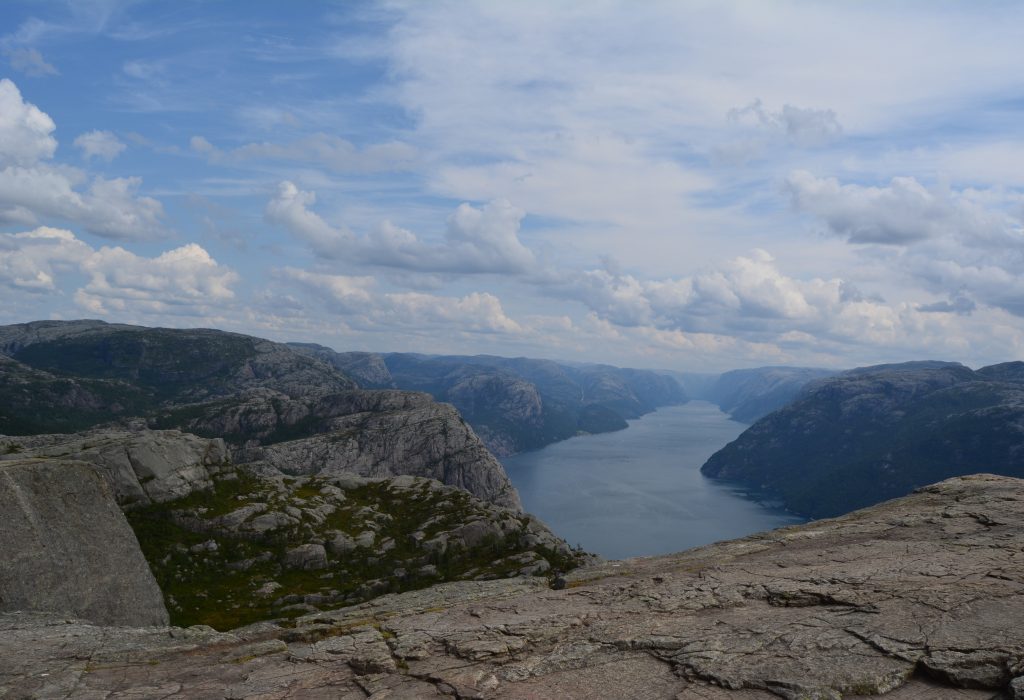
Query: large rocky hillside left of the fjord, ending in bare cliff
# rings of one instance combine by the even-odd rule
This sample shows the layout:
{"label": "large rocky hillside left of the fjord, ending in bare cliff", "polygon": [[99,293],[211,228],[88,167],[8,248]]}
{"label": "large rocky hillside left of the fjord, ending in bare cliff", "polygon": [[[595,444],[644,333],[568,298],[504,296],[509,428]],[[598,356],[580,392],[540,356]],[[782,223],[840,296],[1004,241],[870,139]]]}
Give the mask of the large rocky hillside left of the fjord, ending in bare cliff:
{"label": "large rocky hillside left of the fjord, ending in bare cliff", "polygon": [[[207,329],[37,321],[0,326],[0,434],[111,422],[115,433],[183,430],[222,438],[224,461],[259,462],[264,471],[413,474],[521,508],[502,466],[451,406],[426,394],[356,389],[331,363],[287,345]],[[119,483],[144,495],[139,484]]]}

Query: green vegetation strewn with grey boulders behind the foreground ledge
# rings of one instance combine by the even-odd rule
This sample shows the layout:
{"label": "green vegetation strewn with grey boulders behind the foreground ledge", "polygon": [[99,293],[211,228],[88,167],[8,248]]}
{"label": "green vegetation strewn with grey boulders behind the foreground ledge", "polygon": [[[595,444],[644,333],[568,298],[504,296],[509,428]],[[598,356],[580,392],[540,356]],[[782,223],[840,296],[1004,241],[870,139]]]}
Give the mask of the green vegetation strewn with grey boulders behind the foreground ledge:
{"label": "green vegetation strewn with grey boulders behind the foreground ledge", "polygon": [[[512,576],[541,559],[550,568],[538,568],[554,576],[581,561],[580,552],[538,544],[526,516],[458,489],[427,480],[342,483],[344,489],[325,478],[264,480],[239,471],[211,490],[130,511],[172,623],[230,629],[440,581]],[[218,521],[247,506],[253,512],[243,523]],[[274,514],[280,527],[246,525]],[[480,521],[494,524],[482,536],[452,535]],[[348,544],[334,548],[326,567],[286,564],[289,550],[331,542],[338,533]],[[445,534],[446,546],[439,544]]]}

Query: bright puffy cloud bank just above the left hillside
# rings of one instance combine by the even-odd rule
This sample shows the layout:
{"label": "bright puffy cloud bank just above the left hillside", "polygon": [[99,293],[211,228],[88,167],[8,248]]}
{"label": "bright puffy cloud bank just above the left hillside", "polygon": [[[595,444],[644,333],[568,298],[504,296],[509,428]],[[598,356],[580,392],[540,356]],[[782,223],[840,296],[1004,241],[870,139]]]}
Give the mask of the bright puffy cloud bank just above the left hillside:
{"label": "bright puffy cloud bank just above the left hillside", "polygon": [[[0,234],[0,283],[63,294],[69,274],[84,276],[75,301],[94,313],[197,310],[234,298],[238,274],[188,244],[146,258],[120,247],[93,249],[69,230],[41,226]],[[60,281],[63,285],[60,285]]]}

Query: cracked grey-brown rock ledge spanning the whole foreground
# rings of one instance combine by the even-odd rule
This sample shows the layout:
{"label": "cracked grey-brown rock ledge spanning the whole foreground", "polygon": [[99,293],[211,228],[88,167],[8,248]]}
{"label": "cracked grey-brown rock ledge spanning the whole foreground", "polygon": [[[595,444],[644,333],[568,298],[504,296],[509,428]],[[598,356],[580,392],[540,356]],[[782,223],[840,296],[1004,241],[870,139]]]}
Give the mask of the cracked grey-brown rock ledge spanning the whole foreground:
{"label": "cracked grey-brown rock ledge spanning the whole foreground", "polygon": [[449,583],[294,628],[0,616],[0,696],[1014,698],[1024,481],[543,581]]}

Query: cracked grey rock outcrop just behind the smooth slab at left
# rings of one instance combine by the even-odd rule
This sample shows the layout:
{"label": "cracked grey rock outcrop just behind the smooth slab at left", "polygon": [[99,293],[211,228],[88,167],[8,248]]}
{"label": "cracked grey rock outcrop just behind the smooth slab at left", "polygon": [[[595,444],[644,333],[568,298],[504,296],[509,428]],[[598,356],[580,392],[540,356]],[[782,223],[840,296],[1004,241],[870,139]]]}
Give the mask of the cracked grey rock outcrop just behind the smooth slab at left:
{"label": "cracked grey rock outcrop just behind the smooth slab at left", "polygon": [[223,440],[176,430],[0,436],[0,461],[69,456],[93,465],[123,508],[173,500],[210,488],[212,477],[229,458]]}

